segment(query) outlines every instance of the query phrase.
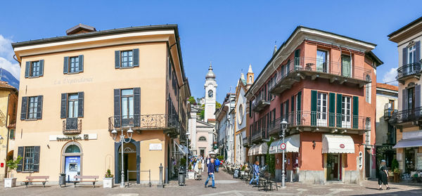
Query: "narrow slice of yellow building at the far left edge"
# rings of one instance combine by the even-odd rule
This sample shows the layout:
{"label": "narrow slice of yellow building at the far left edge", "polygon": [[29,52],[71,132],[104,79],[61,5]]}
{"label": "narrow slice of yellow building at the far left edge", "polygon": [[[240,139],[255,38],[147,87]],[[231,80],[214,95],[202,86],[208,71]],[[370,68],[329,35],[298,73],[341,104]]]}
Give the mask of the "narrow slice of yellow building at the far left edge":
{"label": "narrow slice of yellow building at the far left edge", "polygon": [[0,81],[0,181],[6,178],[8,146],[15,140],[17,103],[18,90],[6,81]]}

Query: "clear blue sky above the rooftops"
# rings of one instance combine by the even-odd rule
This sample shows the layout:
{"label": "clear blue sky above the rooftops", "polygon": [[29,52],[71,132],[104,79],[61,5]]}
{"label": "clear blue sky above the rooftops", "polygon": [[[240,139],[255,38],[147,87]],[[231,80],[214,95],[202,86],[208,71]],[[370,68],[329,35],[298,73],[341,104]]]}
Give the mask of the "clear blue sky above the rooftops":
{"label": "clear blue sky above the rooftops", "polygon": [[[70,4],[71,2],[71,4]],[[298,25],[378,44],[377,81],[395,79],[397,45],[387,35],[421,17],[422,1],[13,1],[0,7],[0,67],[18,73],[11,42],[65,35],[83,23],[108,30],[178,24],[193,96],[204,95],[207,67],[217,75],[217,100],[234,92],[241,71],[255,76]]]}

